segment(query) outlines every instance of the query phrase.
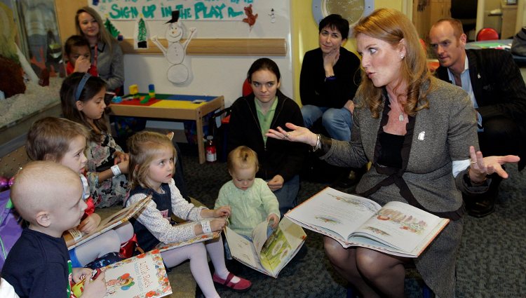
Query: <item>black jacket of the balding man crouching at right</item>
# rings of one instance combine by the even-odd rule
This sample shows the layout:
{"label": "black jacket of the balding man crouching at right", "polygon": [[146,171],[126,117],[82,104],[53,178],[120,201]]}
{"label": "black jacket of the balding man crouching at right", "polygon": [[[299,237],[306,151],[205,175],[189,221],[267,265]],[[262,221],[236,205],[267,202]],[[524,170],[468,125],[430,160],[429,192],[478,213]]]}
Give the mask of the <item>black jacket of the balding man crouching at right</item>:
{"label": "black jacket of the balding man crouching at right", "polygon": [[[517,123],[524,139],[526,85],[513,56],[506,50],[497,49],[466,50],[466,56],[471,86],[478,104],[477,111],[483,118],[483,126],[488,118],[505,116]],[[446,67],[438,67],[436,76],[451,82]],[[519,169],[522,169],[526,162],[526,146],[521,144],[520,147]]]}

